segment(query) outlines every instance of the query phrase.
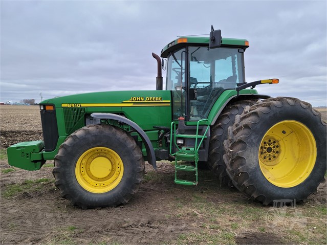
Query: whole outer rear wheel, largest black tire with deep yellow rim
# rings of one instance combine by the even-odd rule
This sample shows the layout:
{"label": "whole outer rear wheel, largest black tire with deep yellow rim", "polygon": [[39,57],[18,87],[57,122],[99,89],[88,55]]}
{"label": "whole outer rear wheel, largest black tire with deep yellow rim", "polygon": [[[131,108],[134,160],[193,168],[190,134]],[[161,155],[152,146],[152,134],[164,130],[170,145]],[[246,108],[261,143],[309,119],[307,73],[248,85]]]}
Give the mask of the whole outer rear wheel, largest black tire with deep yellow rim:
{"label": "whole outer rear wheel, largest black tire with deep yellow rim", "polygon": [[270,98],[237,116],[224,142],[227,173],[237,189],[265,205],[305,202],[324,181],[326,123],[307,102]]}

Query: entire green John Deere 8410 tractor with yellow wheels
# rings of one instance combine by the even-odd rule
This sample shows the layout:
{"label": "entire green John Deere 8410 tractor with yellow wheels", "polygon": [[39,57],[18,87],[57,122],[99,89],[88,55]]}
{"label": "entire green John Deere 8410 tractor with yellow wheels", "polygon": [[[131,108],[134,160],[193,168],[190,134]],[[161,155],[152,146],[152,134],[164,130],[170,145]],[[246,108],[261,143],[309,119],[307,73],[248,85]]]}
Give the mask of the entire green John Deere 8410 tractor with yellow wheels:
{"label": "entire green John Deere 8410 tractor with yellow wheels", "polygon": [[[175,161],[175,183],[198,184],[208,166],[217,185],[264,205],[306,201],[324,181],[326,123],[295,98],[271,98],[247,83],[245,39],[180,37],[163,48],[156,91],[98,92],[40,103],[44,141],[8,148],[10,165],[38,170],[54,160],[61,196],[82,208],[125,204],[139,189],[144,161]],[[165,68],[166,90],[161,69]],[[192,164],[187,164],[192,163]],[[182,180],[181,171],[194,179]],[[201,181],[201,180],[200,180]]]}

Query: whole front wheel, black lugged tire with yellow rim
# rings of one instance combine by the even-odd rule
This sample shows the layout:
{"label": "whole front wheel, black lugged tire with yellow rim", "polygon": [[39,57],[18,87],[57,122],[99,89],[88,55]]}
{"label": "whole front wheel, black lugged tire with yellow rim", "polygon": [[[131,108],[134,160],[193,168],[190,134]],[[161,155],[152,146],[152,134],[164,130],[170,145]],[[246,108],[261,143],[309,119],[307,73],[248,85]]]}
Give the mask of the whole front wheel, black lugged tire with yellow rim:
{"label": "whole front wheel, black lugged tire with yellow rim", "polygon": [[81,208],[125,204],[144,174],[140,148],[125,131],[89,125],[62,143],[54,159],[55,185],[61,196]]}

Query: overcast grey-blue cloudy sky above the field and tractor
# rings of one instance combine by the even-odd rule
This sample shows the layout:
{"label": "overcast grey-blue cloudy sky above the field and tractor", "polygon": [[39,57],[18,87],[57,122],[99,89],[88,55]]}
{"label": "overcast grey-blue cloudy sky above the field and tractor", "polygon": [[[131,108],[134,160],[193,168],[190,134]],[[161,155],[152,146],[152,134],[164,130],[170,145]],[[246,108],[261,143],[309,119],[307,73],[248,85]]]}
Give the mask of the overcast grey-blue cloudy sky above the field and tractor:
{"label": "overcast grey-blue cloudy sky above the field and tractor", "polygon": [[261,94],[326,105],[326,1],[1,1],[1,101],[155,90],[151,52],[177,36],[246,38]]}

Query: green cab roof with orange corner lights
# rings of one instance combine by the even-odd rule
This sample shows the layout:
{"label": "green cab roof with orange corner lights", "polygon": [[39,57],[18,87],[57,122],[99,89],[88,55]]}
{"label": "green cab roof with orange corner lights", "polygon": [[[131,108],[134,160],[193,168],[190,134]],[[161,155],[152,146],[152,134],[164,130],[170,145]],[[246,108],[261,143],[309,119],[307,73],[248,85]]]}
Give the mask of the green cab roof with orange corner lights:
{"label": "green cab roof with orange corner lights", "polygon": [[[161,51],[161,57],[167,58],[169,52],[180,49],[187,44],[194,44],[197,46],[209,46],[209,37],[190,37],[182,36],[178,39],[173,40],[168,43]],[[231,48],[241,48],[246,49],[249,47],[249,41],[246,39],[236,39],[236,38],[222,38],[221,47],[231,47]]]}

